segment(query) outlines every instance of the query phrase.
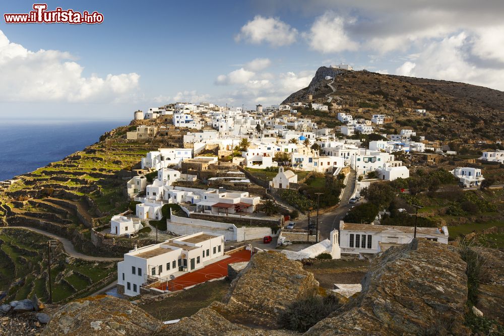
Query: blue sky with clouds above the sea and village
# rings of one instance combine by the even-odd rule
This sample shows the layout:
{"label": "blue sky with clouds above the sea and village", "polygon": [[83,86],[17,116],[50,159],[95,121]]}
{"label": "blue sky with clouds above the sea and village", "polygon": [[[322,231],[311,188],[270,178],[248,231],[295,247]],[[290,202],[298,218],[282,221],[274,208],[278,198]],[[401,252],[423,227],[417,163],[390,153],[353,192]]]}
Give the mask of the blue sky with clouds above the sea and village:
{"label": "blue sky with clouds above the sea and village", "polygon": [[[33,2],[0,0],[2,14]],[[170,102],[278,104],[320,66],[504,90],[500,0],[48,1],[103,23],[0,18],[2,120],[131,119]]]}

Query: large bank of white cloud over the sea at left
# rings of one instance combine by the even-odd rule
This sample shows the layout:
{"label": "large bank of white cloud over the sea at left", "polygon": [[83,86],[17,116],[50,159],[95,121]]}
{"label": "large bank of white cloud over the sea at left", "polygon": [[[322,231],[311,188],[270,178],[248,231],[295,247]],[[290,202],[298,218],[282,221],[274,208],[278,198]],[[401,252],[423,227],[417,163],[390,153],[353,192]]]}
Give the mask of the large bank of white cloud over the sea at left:
{"label": "large bank of white cloud over the sea at left", "polygon": [[119,101],[138,88],[136,73],[83,77],[67,52],[30,51],[0,30],[0,101]]}

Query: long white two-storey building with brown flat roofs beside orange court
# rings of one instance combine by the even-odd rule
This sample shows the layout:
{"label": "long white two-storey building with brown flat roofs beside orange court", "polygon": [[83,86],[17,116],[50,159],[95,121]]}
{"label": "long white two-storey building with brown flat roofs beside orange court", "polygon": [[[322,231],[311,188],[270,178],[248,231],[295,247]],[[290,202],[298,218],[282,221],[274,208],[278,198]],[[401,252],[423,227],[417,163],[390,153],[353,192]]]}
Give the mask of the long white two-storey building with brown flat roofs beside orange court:
{"label": "long white two-storey building with brown flat roofs beside orange court", "polygon": [[147,282],[169,281],[175,273],[192,272],[224,255],[224,236],[200,232],[137,248],[117,263],[117,284],[127,296],[140,294]]}

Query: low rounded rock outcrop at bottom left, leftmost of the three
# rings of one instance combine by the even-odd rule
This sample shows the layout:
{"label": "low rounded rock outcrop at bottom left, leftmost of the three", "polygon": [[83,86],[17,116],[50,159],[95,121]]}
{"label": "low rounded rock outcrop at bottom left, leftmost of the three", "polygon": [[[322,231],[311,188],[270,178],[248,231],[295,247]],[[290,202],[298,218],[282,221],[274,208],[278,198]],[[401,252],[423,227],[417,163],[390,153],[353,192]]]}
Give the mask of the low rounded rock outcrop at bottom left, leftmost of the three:
{"label": "low rounded rock outcrop at bottom left, leftmost of the three", "polygon": [[151,335],[163,323],[129,301],[99,295],[73,301],[54,313],[46,336]]}

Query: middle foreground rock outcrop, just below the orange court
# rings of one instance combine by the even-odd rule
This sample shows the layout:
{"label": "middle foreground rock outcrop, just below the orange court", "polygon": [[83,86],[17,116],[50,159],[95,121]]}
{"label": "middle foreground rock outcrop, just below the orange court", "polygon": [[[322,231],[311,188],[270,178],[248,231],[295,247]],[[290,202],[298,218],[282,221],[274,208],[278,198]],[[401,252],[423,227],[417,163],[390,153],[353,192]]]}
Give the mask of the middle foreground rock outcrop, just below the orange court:
{"label": "middle foreground rock outcrop, just below the orange court", "polygon": [[293,301],[316,294],[318,289],[319,282],[303,270],[300,262],[288,260],[281,253],[261,252],[233,280],[225,303],[214,302],[183,318],[168,326],[166,334],[290,334],[263,328],[279,328],[279,313]]}

